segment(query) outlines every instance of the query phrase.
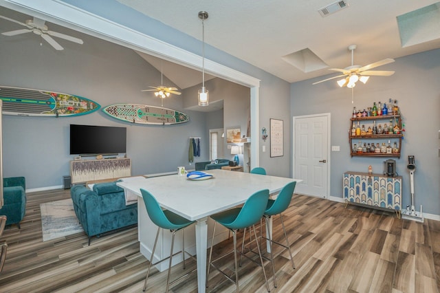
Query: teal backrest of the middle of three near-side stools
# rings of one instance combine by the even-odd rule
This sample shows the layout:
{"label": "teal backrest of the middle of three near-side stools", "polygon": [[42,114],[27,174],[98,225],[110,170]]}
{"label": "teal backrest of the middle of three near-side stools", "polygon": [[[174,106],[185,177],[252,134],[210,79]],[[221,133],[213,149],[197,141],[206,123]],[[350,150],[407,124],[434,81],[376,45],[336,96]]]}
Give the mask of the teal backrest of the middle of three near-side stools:
{"label": "teal backrest of the middle of three near-side stools", "polygon": [[265,208],[267,206],[267,199],[269,199],[269,190],[263,189],[257,191],[246,200],[239,215],[231,224],[228,224],[230,229],[242,229],[254,225],[263,217]]}

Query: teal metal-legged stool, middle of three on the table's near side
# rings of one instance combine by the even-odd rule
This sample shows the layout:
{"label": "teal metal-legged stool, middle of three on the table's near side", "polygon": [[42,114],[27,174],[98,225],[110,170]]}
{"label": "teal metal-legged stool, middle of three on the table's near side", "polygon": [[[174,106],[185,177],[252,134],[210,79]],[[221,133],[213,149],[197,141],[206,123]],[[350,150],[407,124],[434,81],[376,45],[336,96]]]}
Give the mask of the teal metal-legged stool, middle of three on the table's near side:
{"label": "teal metal-legged stool, middle of three on the table's near side", "polygon": [[[228,252],[227,254],[224,254],[223,256],[214,259],[212,259],[212,245],[213,242],[211,242],[211,249],[209,253],[209,261],[208,261],[208,269],[206,272],[206,287],[208,287],[208,276],[210,267],[212,265],[213,268],[219,270],[228,280],[230,280],[232,283],[236,285],[236,292],[239,292],[239,272],[237,270],[237,257],[236,257],[236,232],[239,229],[243,229],[246,227],[253,227],[254,228],[254,235],[256,237],[255,232],[255,226],[254,224],[257,223],[261,217],[263,217],[263,213],[265,212],[265,208],[267,206],[267,199],[269,199],[269,190],[264,189],[262,191],[257,191],[256,193],[252,194],[248,200],[246,200],[245,204],[240,208],[231,208],[230,210],[225,210],[224,212],[217,213],[215,215],[211,215],[210,217],[214,220],[214,228],[212,231],[212,239],[214,239],[215,235],[215,226],[217,223],[225,226],[225,228],[228,228],[230,231],[232,231],[232,235],[234,237],[234,250],[231,252]],[[260,264],[261,269],[263,270],[264,279],[266,281],[267,286],[267,292],[270,292],[269,289],[269,283],[267,283],[267,277],[266,272],[263,265],[263,259],[261,257],[261,250],[260,246],[257,243],[257,247],[259,250],[260,255]],[[214,264],[215,261],[218,261],[219,259],[222,259],[226,255],[230,253],[234,253],[234,268],[235,268],[235,281],[230,278],[225,272],[221,271],[217,265]]]}

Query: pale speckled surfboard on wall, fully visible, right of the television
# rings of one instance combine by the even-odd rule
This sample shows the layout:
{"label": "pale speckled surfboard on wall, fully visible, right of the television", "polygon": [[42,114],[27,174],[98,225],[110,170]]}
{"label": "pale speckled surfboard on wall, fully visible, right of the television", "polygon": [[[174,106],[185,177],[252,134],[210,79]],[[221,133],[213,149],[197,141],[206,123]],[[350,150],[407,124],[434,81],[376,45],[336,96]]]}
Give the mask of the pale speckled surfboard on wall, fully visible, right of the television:
{"label": "pale speckled surfboard on wall, fully visible, right of the television", "polygon": [[173,109],[138,104],[115,104],[102,109],[109,116],[139,124],[179,124],[188,122],[190,117]]}

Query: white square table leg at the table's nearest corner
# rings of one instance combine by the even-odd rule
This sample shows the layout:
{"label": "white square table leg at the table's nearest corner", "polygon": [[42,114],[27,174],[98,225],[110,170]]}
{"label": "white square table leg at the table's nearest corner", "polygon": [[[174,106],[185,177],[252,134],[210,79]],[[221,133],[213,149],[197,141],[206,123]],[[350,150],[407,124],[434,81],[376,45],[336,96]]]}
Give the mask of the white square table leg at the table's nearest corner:
{"label": "white square table leg at the table's nearest corner", "polygon": [[195,248],[197,253],[197,288],[199,293],[206,290],[206,249],[208,246],[208,217],[198,219],[195,224]]}

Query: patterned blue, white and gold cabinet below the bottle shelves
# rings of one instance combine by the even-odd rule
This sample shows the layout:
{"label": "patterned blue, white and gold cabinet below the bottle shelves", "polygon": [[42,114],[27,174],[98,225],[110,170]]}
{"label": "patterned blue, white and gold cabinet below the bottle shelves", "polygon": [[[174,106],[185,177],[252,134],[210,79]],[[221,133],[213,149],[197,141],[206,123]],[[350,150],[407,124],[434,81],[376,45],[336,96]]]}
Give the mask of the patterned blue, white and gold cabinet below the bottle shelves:
{"label": "patterned blue, white and gold cabinet below the bottle shelves", "polygon": [[344,199],[354,204],[401,210],[401,176],[346,172],[343,178]]}

